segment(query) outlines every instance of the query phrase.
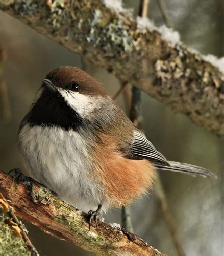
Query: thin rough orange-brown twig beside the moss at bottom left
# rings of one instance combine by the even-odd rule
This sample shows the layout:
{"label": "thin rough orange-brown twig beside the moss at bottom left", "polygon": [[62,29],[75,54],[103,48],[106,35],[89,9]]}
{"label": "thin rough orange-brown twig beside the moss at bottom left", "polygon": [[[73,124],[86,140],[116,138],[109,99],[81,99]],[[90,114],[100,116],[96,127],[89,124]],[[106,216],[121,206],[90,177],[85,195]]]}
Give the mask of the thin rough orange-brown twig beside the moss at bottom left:
{"label": "thin rough orange-brown twig beside the moss at bottom left", "polygon": [[13,207],[9,205],[9,200],[6,200],[2,193],[0,193],[0,209],[4,210],[4,213],[9,216],[7,223],[15,231],[16,236],[21,237],[26,243],[28,250],[31,252],[32,256],[39,256],[36,248],[31,243],[28,237],[28,231],[26,227],[18,220],[17,216],[14,214]]}

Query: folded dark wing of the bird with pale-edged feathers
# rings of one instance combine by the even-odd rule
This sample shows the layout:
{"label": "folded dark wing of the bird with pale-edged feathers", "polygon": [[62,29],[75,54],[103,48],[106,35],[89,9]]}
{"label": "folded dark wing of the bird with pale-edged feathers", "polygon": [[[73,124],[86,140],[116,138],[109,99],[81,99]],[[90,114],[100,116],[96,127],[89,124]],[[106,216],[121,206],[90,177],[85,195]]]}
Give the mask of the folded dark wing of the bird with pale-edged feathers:
{"label": "folded dark wing of the bird with pale-edged feathers", "polygon": [[169,165],[166,158],[156,150],[154,145],[147,140],[144,134],[137,128],[134,130],[133,142],[131,151],[127,156],[130,159],[148,159],[153,164]]}

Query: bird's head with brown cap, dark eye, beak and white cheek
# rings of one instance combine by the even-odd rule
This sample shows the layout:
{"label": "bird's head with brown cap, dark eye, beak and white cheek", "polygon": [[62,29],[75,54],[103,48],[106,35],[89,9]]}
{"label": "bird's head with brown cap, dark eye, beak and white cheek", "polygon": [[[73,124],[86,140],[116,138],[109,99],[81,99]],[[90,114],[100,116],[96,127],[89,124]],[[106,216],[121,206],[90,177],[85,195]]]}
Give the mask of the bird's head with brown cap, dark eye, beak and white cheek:
{"label": "bird's head with brown cap, dark eye, beak and white cheek", "polygon": [[59,97],[82,117],[100,108],[109,98],[101,84],[77,67],[63,66],[52,70],[43,85],[48,97]]}

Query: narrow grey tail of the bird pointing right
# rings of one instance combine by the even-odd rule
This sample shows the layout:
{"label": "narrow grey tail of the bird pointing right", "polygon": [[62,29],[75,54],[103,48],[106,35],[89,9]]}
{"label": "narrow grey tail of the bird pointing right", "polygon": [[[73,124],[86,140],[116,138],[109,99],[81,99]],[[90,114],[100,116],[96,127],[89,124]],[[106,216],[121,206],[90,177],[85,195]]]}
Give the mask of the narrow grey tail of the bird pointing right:
{"label": "narrow grey tail of the bird pointing right", "polygon": [[190,174],[193,176],[200,175],[203,177],[217,178],[215,174],[209,172],[209,170],[198,167],[195,165],[187,164],[187,163],[179,163],[173,161],[167,161],[169,165],[160,165],[157,164],[156,167],[161,170],[171,170],[172,172],[180,172],[185,174]]}

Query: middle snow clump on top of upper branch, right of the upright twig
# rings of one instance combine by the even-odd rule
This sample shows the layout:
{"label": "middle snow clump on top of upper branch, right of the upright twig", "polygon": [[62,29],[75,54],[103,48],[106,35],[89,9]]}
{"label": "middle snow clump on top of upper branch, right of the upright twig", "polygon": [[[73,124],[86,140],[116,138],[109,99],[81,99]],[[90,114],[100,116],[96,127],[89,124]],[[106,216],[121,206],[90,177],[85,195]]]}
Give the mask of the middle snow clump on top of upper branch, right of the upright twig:
{"label": "middle snow clump on top of upper branch, right of the upright twig", "polygon": [[179,32],[173,30],[172,28],[168,28],[166,25],[156,27],[154,22],[147,17],[137,17],[137,28],[139,30],[148,29],[151,32],[159,32],[161,34],[161,38],[169,42],[171,46],[175,46],[180,42]]}

